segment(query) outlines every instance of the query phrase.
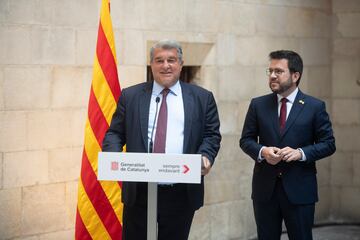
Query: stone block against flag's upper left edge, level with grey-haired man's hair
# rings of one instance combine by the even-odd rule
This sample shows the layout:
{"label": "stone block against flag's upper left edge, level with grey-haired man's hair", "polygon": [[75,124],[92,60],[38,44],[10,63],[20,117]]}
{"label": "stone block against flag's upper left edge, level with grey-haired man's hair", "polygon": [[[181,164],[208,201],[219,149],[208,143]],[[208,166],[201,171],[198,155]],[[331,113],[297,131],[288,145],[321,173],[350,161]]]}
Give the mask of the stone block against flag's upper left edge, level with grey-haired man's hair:
{"label": "stone block against flag's upper left edge, level with grey-haired man's hair", "polygon": [[[75,62],[80,65],[93,66],[96,56],[96,41],[98,29],[77,29],[76,32]],[[118,45],[115,38],[115,46]]]}

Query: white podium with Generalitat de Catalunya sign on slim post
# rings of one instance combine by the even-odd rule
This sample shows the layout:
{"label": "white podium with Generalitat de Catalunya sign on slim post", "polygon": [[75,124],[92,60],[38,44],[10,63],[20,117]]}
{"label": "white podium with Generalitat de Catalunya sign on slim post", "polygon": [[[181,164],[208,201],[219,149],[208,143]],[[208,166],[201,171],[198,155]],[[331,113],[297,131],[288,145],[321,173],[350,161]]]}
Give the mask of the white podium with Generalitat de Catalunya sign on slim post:
{"label": "white podium with Generalitat de Catalunya sign on slim post", "polygon": [[99,152],[98,180],[148,182],[147,239],[157,240],[157,185],[201,182],[200,154]]}

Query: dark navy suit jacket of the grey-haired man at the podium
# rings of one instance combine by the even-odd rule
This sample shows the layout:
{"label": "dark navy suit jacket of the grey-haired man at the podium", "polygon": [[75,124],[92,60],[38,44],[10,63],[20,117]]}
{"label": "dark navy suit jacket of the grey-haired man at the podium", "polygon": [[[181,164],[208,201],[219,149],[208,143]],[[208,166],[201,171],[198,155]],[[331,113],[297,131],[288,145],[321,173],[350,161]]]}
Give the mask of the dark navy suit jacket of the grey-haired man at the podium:
{"label": "dark navy suit jacket of the grey-haired man at the podium", "polygon": [[[220,148],[220,122],[215,99],[211,92],[195,85],[180,82],[184,102],[185,154],[205,155],[212,164]],[[148,120],[152,83],[141,83],[123,89],[116,112],[105,135],[102,150],[120,152],[148,151]],[[203,205],[204,181],[187,184],[188,200],[194,209]],[[122,201],[133,205],[137,183],[124,182]]]}

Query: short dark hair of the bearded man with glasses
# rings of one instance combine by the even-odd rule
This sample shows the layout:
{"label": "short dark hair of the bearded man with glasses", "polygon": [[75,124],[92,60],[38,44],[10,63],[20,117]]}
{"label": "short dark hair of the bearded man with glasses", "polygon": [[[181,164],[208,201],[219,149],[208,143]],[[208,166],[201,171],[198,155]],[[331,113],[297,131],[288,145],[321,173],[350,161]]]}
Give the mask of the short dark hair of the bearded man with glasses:
{"label": "short dark hair of the bearded man with glasses", "polygon": [[296,86],[299,85],[300,79],[303,71],[303,62],[300,55],[291,50],[277,50],[273,51],[269,54],[269,58],[271,59],[287,59],[288,66],[291,73],[298,72],[300,73],[300,77],[296,82]]}

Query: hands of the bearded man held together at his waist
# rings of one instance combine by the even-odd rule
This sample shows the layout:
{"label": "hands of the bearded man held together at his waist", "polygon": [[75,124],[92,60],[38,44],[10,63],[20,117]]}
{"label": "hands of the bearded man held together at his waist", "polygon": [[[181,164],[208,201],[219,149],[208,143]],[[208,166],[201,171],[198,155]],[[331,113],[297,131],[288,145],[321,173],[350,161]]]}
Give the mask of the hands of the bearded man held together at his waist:
{"label": "hands of the bearded man held together at his waist", "polygon": [[293,149],[291,147],[265,147],[263,148],[261,155],[271,165],[276,165],[280,161],[298,161],[302,158],[301,152],[298,149]]}

